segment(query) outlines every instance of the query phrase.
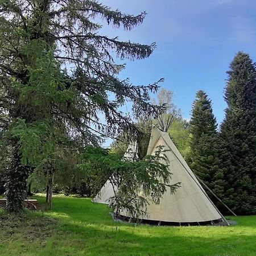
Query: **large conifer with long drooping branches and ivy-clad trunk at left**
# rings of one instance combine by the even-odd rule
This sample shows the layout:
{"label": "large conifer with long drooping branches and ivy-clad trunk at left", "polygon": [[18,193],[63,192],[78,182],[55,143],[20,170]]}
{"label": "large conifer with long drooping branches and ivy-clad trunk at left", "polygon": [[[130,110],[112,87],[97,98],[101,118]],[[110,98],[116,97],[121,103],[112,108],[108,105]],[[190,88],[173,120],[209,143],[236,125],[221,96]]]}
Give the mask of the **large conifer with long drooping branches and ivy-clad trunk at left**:
{"label": "large conifer with long drooping branches and ivy-clad trunk at left", "polygon": [[94,0],[0,1],[0,120],[10,152],[7,209],[22,209],[28,175],[55,148],[65,147],[67,137],[86,145],[100,143],[102,134],[136,132],[132,117],[119,111],[127,100],[135,118],[159,112],[149,95],[158,83],[136,86],[118,79],[125,65],[113,57],[114,52],[122,60],[144,59],[155,43],[109,38],[100,34],[98,23],[101,18],[131,30],[145,15],[123,14]]}

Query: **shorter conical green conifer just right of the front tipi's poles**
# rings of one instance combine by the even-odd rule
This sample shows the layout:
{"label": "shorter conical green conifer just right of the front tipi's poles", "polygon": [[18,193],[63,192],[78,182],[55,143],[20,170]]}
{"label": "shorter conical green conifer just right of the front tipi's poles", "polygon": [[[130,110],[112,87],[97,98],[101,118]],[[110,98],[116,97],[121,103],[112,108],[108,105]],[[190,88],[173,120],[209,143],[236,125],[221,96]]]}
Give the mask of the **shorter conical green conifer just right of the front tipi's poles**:
{"label": "shorter conical green conifer just right of the front tipi's poles", "polygon": [[191,131],[191,168],[209,188],[221,196],[221,170],[218,166],[218,135],[216,118],[213,115],[212,102],[207,94],[200,90],[193,102]]}

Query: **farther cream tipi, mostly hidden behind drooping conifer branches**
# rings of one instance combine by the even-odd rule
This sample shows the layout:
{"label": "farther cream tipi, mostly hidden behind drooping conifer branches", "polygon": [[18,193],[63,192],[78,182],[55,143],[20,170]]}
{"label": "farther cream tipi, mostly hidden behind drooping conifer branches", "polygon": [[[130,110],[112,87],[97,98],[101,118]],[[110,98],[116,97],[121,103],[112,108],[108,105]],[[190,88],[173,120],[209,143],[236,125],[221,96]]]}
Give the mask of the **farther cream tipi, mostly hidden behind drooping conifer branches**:
{"label": "farther cream tipi, mostly hidden behind drooping conifer branches", "polygon": [[[139,159],[137,142],[131,142],[129,144],[125,154],[123,155],[123,159],[130,161]],[[117,189],[118,188],[115,185],[112,185],[108,179],[92,201],[94,203],[109,204],[110,199],[115,195]]]}

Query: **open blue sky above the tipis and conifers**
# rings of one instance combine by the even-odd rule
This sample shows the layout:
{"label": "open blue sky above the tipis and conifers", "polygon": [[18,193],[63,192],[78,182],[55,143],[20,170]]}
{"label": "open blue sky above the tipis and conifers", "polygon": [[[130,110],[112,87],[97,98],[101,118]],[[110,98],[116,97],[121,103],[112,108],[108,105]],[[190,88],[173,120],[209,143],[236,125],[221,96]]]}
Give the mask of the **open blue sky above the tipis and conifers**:
{"label": "open blue sky above the tipis and conifers", "polygon": [[103,0],[125,13],[146,11],[143,24],[132,31],[104,28],[105,34],[150,44],[155,52],[146,60],[124,61],[120,77],[149,84],[161,77],[174,91],[174,103],[190,117],[197,90],[205,90],[220,123],[226,71],[238,51],[256,60],[256,1],[254,0]]}

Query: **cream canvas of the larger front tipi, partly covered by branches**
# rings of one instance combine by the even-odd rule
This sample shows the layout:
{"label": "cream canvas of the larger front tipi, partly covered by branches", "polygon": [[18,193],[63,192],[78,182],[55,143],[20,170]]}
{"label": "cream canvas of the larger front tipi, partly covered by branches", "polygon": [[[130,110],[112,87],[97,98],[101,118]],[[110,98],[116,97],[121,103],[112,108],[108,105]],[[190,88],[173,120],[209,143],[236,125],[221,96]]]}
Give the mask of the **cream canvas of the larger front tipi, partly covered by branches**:
{"label": "cream canvas of the larger front tipi, partly covered by branches", "polygon": [[[167,129],[166,129],[167,130]],[[150,201],[146,214],[138,218],[146,222],[176,222],[178,224],[191,222],[214,222],[225,220],[215,205],[210,201],[201,187],[196,176],[171,141],[166,131],[158,127],[152,127],[151,139],[148,144],[147,155],[153,155],[158,146],[164,146],[166,156],[170,160],[170,172],[172,173],[170,184],[181,182],[174,195],[170,191],[163,194],[160,204]],[[126,212],[121,212],[119,217],[132,217]]]}

